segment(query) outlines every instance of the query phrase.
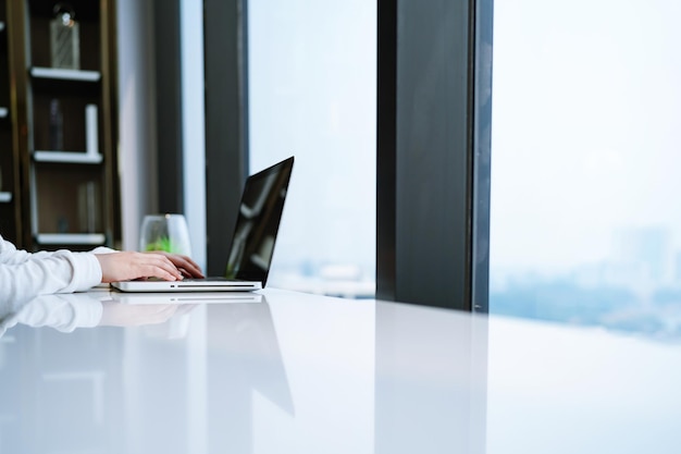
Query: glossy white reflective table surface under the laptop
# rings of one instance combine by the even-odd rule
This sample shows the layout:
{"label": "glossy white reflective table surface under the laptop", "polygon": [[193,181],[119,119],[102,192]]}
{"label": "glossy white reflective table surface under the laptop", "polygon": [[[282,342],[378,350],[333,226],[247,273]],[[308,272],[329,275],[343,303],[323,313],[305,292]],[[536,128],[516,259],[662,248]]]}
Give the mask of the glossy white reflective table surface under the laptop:
{"label": "glossy white reflective table surface under the laptop", "polygon": [[0,453],[678,453],[681,345],[265,290],[47,296],[0,332]]}

